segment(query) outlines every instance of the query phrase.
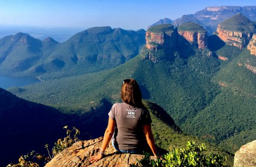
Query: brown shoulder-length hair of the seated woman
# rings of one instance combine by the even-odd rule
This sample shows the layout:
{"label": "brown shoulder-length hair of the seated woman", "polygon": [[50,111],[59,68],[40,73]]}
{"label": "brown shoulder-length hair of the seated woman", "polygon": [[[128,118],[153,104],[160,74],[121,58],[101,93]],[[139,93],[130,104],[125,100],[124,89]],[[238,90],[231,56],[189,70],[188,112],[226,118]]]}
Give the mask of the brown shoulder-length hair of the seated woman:
{"label": "brown shoulder-length hair of the seated woman", "polygon": [[142,105],[142,92],[135,79],[125,79],[121,89],[121,98],[123,102],[132,106]]}

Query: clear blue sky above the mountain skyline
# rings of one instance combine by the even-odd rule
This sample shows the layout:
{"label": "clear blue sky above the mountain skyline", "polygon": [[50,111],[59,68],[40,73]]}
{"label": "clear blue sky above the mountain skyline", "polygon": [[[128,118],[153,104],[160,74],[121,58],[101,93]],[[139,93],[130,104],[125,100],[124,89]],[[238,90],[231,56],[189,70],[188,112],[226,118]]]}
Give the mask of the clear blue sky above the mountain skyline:
{"label": "clear blue sky above the mountain skyline", "polygon": [[207,6],[255,6],[255,0],[0,0],[0,26],[147,29]]}

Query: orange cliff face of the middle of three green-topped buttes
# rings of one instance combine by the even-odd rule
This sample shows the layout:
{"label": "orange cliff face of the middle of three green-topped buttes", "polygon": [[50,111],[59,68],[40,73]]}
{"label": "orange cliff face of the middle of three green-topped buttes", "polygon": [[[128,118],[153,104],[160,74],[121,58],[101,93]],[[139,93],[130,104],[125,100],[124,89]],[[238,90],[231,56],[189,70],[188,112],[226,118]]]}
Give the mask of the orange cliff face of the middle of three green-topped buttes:
{"label": "orange cliff face of the middle of three green-topped buttes", "polygon": [[192,46],[196,46],[199,50],[204,50],[208,45],[207,32],[191,32],[178,30],[178,34],[188,40]]}

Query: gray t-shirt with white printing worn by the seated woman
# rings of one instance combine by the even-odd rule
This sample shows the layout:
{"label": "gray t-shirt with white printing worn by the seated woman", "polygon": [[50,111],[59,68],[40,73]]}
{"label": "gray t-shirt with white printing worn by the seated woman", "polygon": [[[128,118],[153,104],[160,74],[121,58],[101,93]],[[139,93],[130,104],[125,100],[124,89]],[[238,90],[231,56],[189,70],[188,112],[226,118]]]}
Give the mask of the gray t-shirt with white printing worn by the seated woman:
{"label": "gray t-shirt with white printing worn by the seated woman", "polygon": [[115,103],[109,112],[109,118],[116,121],[114,145],[122,150],[141,150],[145,144],[143,126],[151,124],[149,110],[127,103]]}

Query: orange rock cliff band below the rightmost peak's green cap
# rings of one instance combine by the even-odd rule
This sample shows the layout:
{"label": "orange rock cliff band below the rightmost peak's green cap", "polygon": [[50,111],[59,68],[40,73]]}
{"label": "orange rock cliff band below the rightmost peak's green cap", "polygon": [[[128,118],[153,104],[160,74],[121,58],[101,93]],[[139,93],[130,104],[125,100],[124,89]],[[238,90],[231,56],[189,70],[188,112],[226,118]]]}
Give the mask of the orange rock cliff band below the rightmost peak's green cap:
{"label": "orange rock cliff band below the rightmost peak's green cap", "polygon": [[245,48],[252,38],[252,33],[224,30],[221,25],[218,25],[217,33],[218,37],[226,44],[236,46],[240,49]]}

